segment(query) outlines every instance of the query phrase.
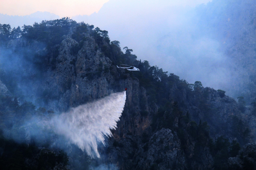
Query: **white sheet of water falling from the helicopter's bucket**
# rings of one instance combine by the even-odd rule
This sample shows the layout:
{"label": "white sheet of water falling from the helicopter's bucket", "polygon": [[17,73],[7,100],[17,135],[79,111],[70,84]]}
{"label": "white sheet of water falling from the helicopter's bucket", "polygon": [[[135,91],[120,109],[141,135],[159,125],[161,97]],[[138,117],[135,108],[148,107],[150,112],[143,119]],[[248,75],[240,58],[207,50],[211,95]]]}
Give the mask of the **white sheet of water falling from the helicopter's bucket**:
{"label": "white sheet of water falling from the helicopter's bucket", "polygon": [[56,133],[63,135],[92,157],[100,158],[97,143],[104,142],[104,136],[112,136],[110,129],[116,129],[117,121],[124,110],[126,92],[111,94],[98,101],[87,103],[52,119]]}

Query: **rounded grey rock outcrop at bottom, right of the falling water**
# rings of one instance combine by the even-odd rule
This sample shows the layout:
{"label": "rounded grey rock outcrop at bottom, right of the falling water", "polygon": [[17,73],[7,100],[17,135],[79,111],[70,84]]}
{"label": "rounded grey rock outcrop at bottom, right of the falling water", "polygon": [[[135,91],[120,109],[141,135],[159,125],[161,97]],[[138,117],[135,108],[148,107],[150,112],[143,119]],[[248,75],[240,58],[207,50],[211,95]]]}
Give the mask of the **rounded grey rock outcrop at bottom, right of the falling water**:
{"label": "rounded grey rock outcrop at bottom, right of the falling water", "polygon": [[[144,146],[145,147],[145,146]],[[186,162],[180,149],[180,141],[170,129],[156,132],[148,143],[145,157],[138,156],[136,169],[184,170]]]}

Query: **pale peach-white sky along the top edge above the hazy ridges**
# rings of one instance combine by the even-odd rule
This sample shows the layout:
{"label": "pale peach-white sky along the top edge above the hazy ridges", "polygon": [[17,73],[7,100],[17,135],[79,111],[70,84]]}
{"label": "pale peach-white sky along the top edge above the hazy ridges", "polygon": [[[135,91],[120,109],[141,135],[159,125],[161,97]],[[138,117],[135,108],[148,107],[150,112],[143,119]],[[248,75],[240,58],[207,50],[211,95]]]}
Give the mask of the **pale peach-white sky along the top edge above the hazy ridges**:
{"label": "pale peach-white sky along the top edge above the hazy ridges", "polygon": [[[0,13],[26,16],[34,12],[50,12],[62,17],[90,15],[98,12],[109,0],[0,0]],[[119,1],[119,0],[118,0]],[[120,0],[122,1],[122,0]],[[134,0],[131,0],[134,1]],[[170,2],[173,6],[195,6],[210,0],[136,0],[143,4]],[[143,7],[142,7],[143,8]]]}

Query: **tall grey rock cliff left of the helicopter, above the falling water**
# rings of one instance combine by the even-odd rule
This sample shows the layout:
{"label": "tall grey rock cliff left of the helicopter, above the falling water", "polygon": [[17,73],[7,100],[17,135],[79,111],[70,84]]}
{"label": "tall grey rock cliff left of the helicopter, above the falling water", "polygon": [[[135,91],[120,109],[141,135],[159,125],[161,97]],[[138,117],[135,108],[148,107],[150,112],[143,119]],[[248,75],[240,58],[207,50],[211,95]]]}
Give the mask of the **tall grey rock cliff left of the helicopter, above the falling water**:
{"label": "tall grey rock cliff left of the helicopter, above the falling water", "polygon": [[46,75],[45,88],[53,90],[62,111],[112,93],[108,86],[113,78],[103,71],[112,62],[96,50],[98,45],[92,37],[86,39],[78,54],[71,53],[78,43],[70,37],[64,39],[56,58],[56,69]]}

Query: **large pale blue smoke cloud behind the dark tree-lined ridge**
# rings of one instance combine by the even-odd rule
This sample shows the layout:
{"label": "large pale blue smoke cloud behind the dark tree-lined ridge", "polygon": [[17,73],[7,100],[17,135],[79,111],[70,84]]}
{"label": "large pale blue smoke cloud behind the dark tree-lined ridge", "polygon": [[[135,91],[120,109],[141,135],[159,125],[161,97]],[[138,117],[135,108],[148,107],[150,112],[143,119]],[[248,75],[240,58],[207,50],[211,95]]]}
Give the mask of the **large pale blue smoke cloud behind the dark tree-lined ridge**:
{"label": "large pale blue smoke cloud behind the dark tree-lined ridge", "polygon": [[[179,4],[182,2],[183,5]],[[190,3],[110,0],[97,14],[72,19],[107,30],[111,40],[133,49],[142,61],[147,60],[189,83],[201,81],[203,86],[222,89],[231,95],[230,84],[239,83],[234,62],[220,41],[223,36],[208,26],[209,19],[201,18],[224,15],[214,16],[203,10],[210,6],[210,0]]]}

